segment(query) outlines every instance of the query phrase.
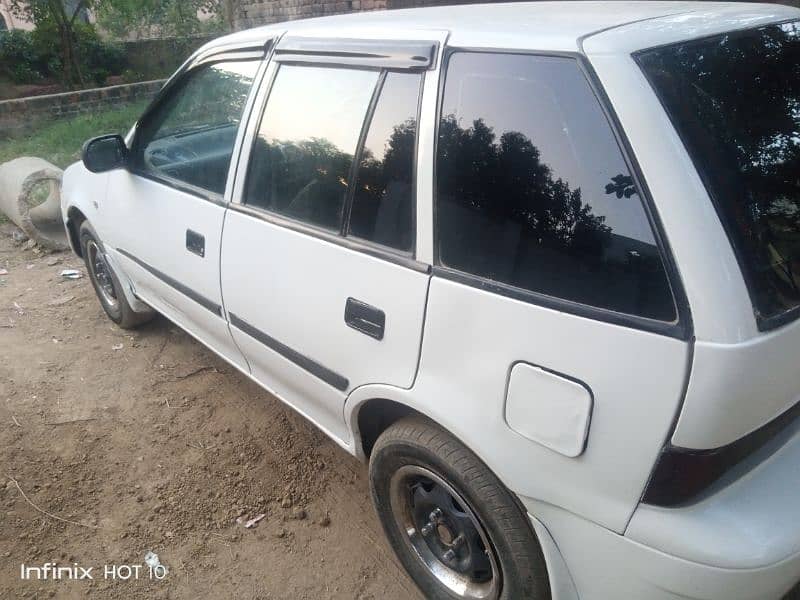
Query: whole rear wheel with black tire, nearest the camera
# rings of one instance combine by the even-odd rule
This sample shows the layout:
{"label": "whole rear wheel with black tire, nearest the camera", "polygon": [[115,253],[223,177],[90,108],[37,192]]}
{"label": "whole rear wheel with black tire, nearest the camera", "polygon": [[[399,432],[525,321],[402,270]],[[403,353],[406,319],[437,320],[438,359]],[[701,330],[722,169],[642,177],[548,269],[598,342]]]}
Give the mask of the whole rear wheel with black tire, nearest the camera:
{"label": "whole rear wheel with black tire, nearest the camera", "polygon": [[419,416],[397,421],[375,443],[369,476],[384,532],[426,598],[550,598],[547,566],[525,511],[450,433]]}

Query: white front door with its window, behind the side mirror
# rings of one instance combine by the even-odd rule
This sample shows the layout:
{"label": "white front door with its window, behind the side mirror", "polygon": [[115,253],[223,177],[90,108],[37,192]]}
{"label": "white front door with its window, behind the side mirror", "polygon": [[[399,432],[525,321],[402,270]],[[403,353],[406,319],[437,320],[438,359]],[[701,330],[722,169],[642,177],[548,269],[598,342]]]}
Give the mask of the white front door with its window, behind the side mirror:
{"label": "white front door with its window, behind the side mirror", "polygon": [[219,250],[231,157],[263,56],[263,47],[220,51],[168,84],[136,128],[129,169],[110,174],[104,223],[136,294],[245,369],[222,310]]}

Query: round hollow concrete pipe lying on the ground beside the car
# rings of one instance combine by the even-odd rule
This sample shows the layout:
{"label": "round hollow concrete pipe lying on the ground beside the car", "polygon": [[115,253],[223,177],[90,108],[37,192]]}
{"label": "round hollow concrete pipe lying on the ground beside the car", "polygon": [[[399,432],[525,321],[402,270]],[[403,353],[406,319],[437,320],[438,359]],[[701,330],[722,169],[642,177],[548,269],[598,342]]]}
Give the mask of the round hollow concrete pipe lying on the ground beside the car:
{"label": "round hollow concrete pipe lying on the ground beside the car", "polygon": [[0,164],[0,211],[49,250],[69,247],[61,220],[62,174],[55,165],[30,156]]}

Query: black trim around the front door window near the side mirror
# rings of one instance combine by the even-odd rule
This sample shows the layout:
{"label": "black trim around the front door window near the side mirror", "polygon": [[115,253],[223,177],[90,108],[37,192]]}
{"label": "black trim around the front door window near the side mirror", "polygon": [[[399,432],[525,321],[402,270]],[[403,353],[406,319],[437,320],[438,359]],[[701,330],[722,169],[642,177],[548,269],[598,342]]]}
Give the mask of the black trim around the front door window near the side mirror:
{"label": "black trim around the front door window near the side mirror", "polygon": [[[147,108],[145,108],[142,115],[136,121],[136,124],[133,127],[133,137],[130,143],[131,152],[133,152],[137,142],[139,141],[140,123],[146,121],[150,115],[152,115],[172,96],[173,93],[179,91],[183,85],[183,82],[186,80],[186,77],[192,74],[195,70],[200,67],[219,62],[260,61],[263,63],[268,58],[270,50],[274,46],[274,41],[274,38],[270,38],[266,41],[266,43],[262,44],[228,44],[211,48],[205,52],[197,53],[187,60],[181,66],[181,68],[178,69],[172,77],[170,77],[167,83],[164,84],[164,87],[158,91],[156,96],[153,98],[150,104],[147,105]],[[257,84],[258,82],[254,80],[250,94],[255,93]],[[246,126],[246,117],[247,115],[242,115],[242,121],[239,123],[238,127]],[[233,150],[235,152],[236,148],[234,147]],[[231,160],[233,160],[233,155],[231,155]],[[216,192],[206,190],[185,181],[181,181],[180,179],[176,179],[175,177],[157,174],[152,171],[146,171],[144,169],[136,168],[133,165],[128,167],[128,171],[137,177],[155,181],[156,183],[161,183],[169,188],[190,194],[223,208],[227,207],[229,204],[225,201],[224,194],[218,194]]]}

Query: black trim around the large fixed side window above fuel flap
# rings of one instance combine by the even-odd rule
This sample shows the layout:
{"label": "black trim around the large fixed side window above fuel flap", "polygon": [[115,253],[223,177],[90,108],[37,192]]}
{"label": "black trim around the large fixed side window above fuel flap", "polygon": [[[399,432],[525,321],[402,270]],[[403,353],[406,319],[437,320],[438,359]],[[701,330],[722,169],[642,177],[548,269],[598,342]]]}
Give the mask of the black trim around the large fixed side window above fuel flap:
{"label": "black trim around the large fixed side window above fuel flap", "polygon": [[[664,264],[664,272],[667,277],[667,282],[672,293],[673,302],[676,310],[676,319],[674,321],[660,321],[657,319],[650,319],[639,315],[632,315],[611,309],[600,308],[573,300],[558,298],[550,296],[541,292],[534,292],[528,289],[520,288],[514,285],[498,282],[495,280],[466,273],[458,269],[450,268],[443,265],[439,257],[439,240],[438,240],[438,201],[437,201],[437,157],[439,145],[439,125],[441,122],[442,107],[444,104],[444,86],[447,76],[450,58],[456,53],[475,53],[475,54],[515,54],[523,56],[542,56],[542,57],[556,57],[556,58],[571,58],[575,60],[578,68],[583,73],[589,88],[597,98],[601,110],[608,120],[609,127],[614,135],[614,139],[620,149],[625,165],[628,167],[631,177],[633,178],[636,189],[639,192],[639,197],[647,217],[650,228],[653,232],[653,237],[656,242],[656,247],[659,256]],[[606,95],[600,79],[597,76],[594,68],[587,59],[587,57],[580,52],[561,52],[561,51],[539,51],[539,50],[524,50],[514,48],[488,48],[488,47],[472,47],[472,46],[445,46],[441,61],[441,68],[439,72],[438,82],[438,97],[436,102],[436,125],[434,132],[434,151],[433,151],[433,266],[432,272],[434,276],[442,277],[476,287],[481,290],[489,291],[501,296],[506,296],[514,300],[520,300],[529,304],[543,306],[565,313],[574,314],[580,317],[586,317],[612,325],[621,325],[632,329],[638,329],[666,337],[675,338],[682,341],[689,341],[693,338],[693,325],[689,301],[686,296],[683,281],[675,263],[672,249],[669,245],[667,237],[664,235],[664,227],[658,215],[658,211],[652,200],[650,188],[647,186],[643,176],[639,162],[633,152],[633,148],[626,137],[622,125],[617,117],[616,112],[611,104],[610,99]]]}

